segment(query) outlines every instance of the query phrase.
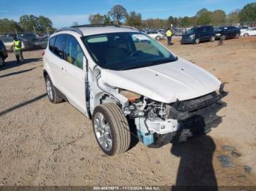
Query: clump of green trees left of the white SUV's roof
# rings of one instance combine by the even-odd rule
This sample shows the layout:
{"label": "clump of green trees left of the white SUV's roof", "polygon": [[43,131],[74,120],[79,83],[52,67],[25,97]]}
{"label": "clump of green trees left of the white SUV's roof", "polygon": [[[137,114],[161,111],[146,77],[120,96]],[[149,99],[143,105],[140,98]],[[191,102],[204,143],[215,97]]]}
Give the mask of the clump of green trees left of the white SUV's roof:
{"label": "clump of green trees left of the white SUV's roof", "polygon": [[0,34],[12,34],[17,32],[26,31],[43,31],[46,32],[47,28],[50,32],[55,31],[53,22],[44,16],[36,17],[34,15],[23,15],[19,21],[10,20],[7,18],[0,19]]}

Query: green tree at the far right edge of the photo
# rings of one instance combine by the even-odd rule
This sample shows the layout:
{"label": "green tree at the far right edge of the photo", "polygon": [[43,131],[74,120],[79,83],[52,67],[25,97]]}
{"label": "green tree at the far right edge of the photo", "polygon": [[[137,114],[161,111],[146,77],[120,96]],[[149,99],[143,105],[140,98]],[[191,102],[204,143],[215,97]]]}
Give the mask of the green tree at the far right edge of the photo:
{"label": "green tree at the far right edge of the photo", "polygon": [[255,22],[256,21],[256,3],[246,4],[239,13],[240,22]]}

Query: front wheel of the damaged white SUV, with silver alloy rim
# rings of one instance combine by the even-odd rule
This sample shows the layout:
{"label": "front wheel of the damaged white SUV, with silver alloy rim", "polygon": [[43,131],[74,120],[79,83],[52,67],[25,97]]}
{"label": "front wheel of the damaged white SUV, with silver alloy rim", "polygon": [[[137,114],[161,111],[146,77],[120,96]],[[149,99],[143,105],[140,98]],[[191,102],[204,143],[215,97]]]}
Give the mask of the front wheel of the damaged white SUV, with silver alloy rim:
{"label": "front wheel of the damaged white SUV, with silver alloy rim", "polygon": [[131,134],[127,118],[116,104],[97,106],[92,123],[97,143],[106,155],[118,155],[129,149]]}

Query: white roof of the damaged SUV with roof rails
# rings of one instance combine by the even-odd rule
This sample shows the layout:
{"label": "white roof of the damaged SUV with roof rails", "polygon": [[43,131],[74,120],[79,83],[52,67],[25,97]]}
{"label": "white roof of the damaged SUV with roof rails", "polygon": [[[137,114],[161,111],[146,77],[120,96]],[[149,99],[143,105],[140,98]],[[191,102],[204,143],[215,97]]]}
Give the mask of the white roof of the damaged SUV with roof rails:
{"label": "white roof of the damaged SUV with roof rails", "polygon": [[104,25],[85,25],[72,26],[69,28],[61,28],[59,31],[76,31],[82,36],[89,36],[94,34],[118,33],[118,32],[138,32],[136,28],[129,26],[104,26]]}

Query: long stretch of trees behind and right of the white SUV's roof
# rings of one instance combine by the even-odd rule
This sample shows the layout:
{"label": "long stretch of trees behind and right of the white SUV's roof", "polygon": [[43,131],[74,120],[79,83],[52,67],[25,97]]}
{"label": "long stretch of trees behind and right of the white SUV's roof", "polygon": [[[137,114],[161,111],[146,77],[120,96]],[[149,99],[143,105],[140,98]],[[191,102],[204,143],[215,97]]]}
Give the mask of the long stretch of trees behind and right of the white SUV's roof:
{"label": "long stretch of trees behind and right of the white SUV's roof", "polygon": [[206,8],[200,9],[193,17],[173,17],[167,19],[150,18],[142,20],[141,14],[135,11],[127,12],[127,9],[121,5],[115,5],[108,14],[92,14],[89,16],[91,24],[124,24],[136,28],[163,28],[170,27],[188,27],[199,25],[222,26],[225,24],[234,25],[236,23],[256,23],[256,3],[246,4],[243,9],[237,9],[229,14],[223,10],[217,9],[213,12]]}

